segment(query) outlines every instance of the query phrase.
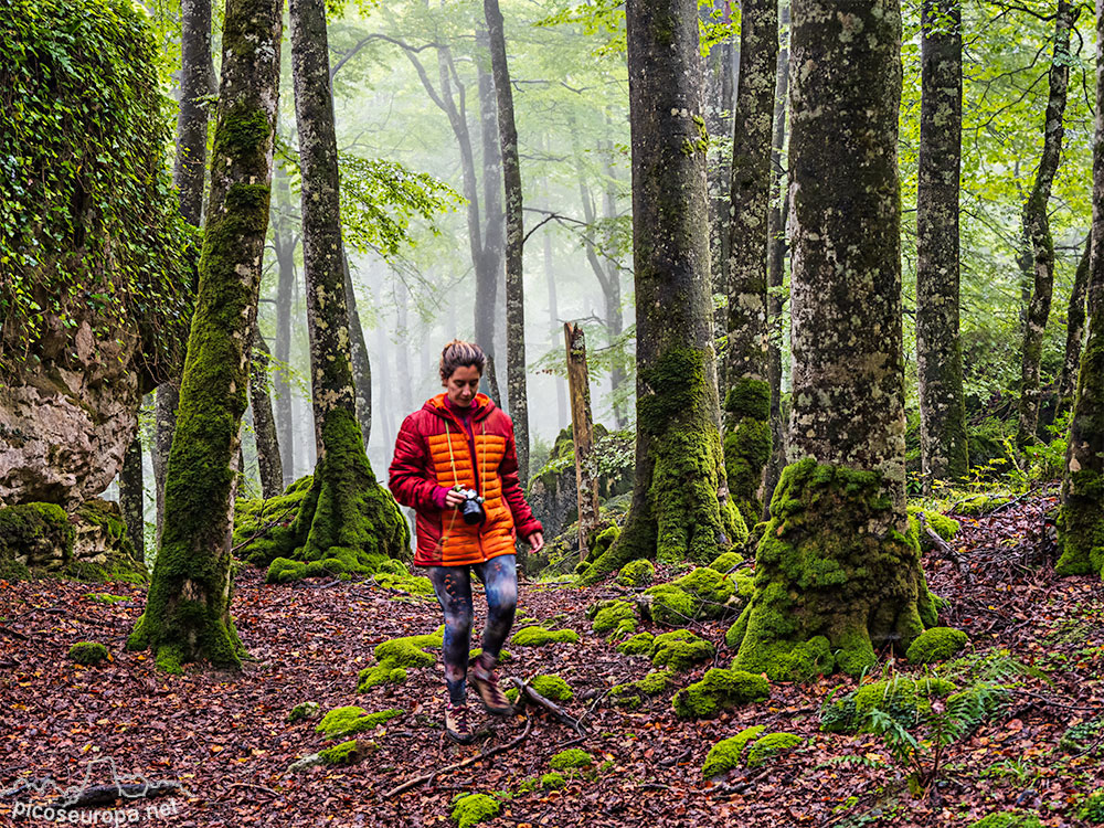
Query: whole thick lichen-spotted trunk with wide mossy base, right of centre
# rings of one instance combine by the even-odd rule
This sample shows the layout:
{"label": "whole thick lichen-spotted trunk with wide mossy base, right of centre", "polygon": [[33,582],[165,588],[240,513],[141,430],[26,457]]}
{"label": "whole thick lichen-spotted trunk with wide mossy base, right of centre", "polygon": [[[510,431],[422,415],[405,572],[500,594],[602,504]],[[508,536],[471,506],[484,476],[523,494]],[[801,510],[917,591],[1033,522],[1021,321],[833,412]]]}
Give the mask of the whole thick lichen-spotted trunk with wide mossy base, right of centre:
{"label": "whole thick lichen-spotted trunk with wide mossy base, right of centre", "polygon": [[793,3],[793,463],[731,636],[775,679],[861,672],[934,622],[904,497],[901,14],[847,9]]}

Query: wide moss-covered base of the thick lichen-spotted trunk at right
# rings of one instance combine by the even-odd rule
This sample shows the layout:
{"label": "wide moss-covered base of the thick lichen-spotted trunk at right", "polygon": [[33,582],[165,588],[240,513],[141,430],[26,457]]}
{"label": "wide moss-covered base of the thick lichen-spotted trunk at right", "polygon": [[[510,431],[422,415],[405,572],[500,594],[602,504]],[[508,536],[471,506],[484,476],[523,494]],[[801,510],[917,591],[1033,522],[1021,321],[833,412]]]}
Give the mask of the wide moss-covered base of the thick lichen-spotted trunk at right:
{"label": "wide moss-covered base of the thick lichen-spotted trunk at right", "polygon": [[783,471],[746,623],[730,630],[740,646],[733,667],[782,681],[857,676],[875,662],[875,647],[903,650],[924,631],[932,598],[892,490],[879,473],[813,458]]}

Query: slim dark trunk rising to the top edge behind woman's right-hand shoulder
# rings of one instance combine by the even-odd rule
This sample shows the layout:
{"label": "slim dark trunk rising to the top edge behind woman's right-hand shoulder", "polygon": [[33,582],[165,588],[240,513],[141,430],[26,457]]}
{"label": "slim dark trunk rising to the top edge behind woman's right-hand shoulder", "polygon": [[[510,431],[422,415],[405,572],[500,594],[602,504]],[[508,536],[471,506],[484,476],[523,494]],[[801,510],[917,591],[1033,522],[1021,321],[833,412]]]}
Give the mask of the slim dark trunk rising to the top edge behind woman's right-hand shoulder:
{"label": "slim dark trunk rising to the top edge behind woman's right-hand shoulder", "polygon": [[513,117],[513,88],[510,86],[510,66],[506,55],[505,24],[498,0],[484,0],[484,17],[487,19],[495,96],[498,100],[498,132],[506,192],[506,376],[510,417],[513,420],[518,447],[518,478],[524,489],[529,486],[529,392],[526,386],[526,225],[522,215],[521,160],[518,157],[518,125]]}

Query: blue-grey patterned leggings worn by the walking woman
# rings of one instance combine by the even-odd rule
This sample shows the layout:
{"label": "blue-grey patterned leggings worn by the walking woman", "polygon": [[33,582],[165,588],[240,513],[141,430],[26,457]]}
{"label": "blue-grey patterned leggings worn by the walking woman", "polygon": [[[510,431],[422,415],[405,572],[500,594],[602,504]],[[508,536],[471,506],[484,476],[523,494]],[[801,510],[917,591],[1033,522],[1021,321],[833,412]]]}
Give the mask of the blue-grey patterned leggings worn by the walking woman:
{"label": "blue-grey patterned leggings worn by the walking woman", "polygon": [[468,647],[471,639],[471,573],[487,594],[484,628],[484,665],[492,667],[513,626],[518,607],[518,563],[513,555],[499,555],[470,566],[427,566],[426,575],[445,612],[445,683],[453,704],[465,703]]}

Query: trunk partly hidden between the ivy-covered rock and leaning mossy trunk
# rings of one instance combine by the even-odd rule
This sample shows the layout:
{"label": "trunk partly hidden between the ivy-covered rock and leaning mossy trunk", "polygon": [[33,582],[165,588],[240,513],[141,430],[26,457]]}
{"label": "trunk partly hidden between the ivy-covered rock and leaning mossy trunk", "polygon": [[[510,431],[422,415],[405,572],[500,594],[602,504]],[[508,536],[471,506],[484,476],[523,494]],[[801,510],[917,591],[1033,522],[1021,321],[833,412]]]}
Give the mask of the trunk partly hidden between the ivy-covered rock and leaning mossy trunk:
{"label": "trunk partly hidden between the ivy-covered rock and leaning mossy trunk", "polygon": [[[215,92],[211,65],[211,0],[180,3],[180,112],[177,115],[177,157],[172,184],[180,192],[180,215],[200,226],[203,177],[206,172],[208,114],[201,98]],[[164,524],[164,473],[172,448],[180,404],[180,379],[161,383],[155,402],[156,438],[151,446],[157,499],[157,542]]]}

